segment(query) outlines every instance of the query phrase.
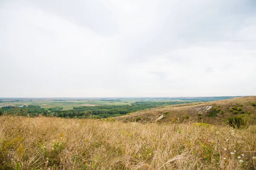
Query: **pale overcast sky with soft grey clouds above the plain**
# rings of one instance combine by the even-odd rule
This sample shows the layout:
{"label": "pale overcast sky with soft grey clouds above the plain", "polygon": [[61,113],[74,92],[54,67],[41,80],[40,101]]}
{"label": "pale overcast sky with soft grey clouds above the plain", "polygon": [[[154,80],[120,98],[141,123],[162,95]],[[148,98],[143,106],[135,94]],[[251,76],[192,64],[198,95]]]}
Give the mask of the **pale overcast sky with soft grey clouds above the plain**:
{"label": "pale overcast sky with soft grey clouds above the plain", "polygon": [[255,0],[0,0],[0,97],[256,95]]}

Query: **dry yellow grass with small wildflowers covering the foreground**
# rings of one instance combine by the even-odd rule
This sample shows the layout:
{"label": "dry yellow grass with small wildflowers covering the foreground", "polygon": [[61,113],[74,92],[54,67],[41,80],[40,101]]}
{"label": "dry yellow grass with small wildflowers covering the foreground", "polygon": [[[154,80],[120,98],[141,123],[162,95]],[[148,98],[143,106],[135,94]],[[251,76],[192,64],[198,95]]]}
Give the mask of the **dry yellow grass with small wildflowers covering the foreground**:
{"label": "dry yellow grass with small wildflowers covering the foreground", "polygon": [[255,125],[0,117],[6,170],[255,169],[255,151]]}

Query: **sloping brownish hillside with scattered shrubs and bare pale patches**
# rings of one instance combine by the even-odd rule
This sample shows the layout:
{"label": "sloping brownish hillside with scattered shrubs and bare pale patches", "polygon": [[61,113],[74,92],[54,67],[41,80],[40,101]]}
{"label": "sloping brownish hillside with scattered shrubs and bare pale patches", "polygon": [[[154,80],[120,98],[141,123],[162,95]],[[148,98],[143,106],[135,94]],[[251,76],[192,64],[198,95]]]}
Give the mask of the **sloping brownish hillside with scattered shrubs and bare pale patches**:
{"label": "sloping brownish hillside with scattered shrubs and bare pale patches", "polygon": [[198,121],[209,124],[224,124],[228,118],[241,116],[249,124],[256,124],[256,96],[246,96],[192,104],[177,104],[168,107],[142,110],[117,117],[131,122],[186,122]]}

